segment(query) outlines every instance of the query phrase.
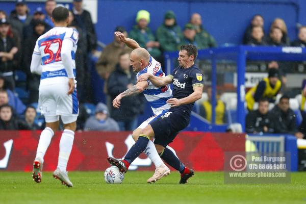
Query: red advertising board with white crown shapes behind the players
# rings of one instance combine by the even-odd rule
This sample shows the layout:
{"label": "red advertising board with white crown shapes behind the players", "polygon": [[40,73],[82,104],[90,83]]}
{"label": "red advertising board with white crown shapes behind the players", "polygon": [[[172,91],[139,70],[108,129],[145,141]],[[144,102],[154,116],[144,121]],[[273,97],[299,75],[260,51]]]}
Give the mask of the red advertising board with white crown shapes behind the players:
{"label": "red advertising board with white crown shapes behind the players", "polygon": [[[32,171],[40,132],[0,131],[0,170]],[[53,137],[44,157],[44,171],[57,167],[61,132]],[[109,167],[106,158],[122,158],[134,144],[131,132],[77,132],[68,171],[96,171]],[[184,164],[196,171],[222,171],[225,151],[244,151],[244,134],[182,132],[170,144]],[[142,154],[130,170],[154,170]]]}

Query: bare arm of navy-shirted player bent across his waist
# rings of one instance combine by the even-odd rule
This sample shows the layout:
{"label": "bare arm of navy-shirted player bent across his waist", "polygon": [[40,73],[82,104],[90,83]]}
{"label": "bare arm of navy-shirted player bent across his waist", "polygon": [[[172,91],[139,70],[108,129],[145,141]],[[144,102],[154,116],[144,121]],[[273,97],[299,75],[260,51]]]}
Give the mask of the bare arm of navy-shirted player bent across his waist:
{"label": "bare arm of navy-shirted player bent across his waist", "polygon": [[185,104],[191,104],[194,101],[200,99],[202,97],[203,87],[202,86],[193,86],[193,93],[189,96],[181,99],[170,98],[167,100],[167,103],[171,105],[171,107],[181,106]]}

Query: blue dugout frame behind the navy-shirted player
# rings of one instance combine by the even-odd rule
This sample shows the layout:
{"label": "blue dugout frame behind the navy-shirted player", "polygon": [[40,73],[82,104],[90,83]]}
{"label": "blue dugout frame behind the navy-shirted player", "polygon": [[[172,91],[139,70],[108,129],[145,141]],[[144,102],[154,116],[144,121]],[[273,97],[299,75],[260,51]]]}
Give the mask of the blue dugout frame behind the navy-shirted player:
{"label": "blue dugout frame behind the navy-shirted player", "polygon": [[[166,52],[165,71],[166,74],[171,73],[177,65],[178,52]],[[216,104],[216,87],[217,87],[217,63],[220,61],[236,63],[237,82],[237,111],[231,113],[235,114],[236,122],[239,122],[243,131],[245,130],[245,69],[247,60],[250,61],[293,61],[300,62],[306,59],[306,48],[302,47],[272,47],[272,46],[232,46],[232,47],[217,47],[210,49],[198,50],[198,60],[206,60],[211,63],[211,87],[212,87],[212,122],[205,124],[207,121],[199,119],[193,114],[195,122],[201,124],[191,124],[191,126],[205,126],[212,132],[222,132],[226,125],[215,124],[215,104]],[[233,117],[233,115],[232,115]],[[206,129],[206,128],[205,128]],[[198,129],[197,129],[198,130]],[[207,129],[206,129],[207,130]]]}

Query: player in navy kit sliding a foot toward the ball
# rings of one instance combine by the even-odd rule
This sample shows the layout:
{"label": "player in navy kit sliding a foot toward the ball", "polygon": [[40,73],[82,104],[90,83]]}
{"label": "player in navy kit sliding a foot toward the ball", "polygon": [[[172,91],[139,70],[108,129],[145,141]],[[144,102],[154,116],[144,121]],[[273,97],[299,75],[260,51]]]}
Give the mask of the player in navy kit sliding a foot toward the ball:
{"label": "player in navy kit sliding a foot toward the ball", "polygon": [[151,73],[139,76],[138,81],[149,80],[158,87],[173,83],[173,96],[167,100],[171,105],[168,112],[157,116],[140,133],[135,145],[127,152],[124,160],[111,159],[110,163],[116,165],[121,172],[126,172],[130,164],[145,149],[150,138],[155,138],[155,146],[161,158],[181,173],[180,184],[187,183],[194,172],[177,158],[173,152],[165,148],[173,141],[176,135],[188,126],[194,102],[202,97],[203,79],[199,68],[194,65],[197,57],[197,48],[192,44],[180,48],[180,66],[167,77],[156,77]]}

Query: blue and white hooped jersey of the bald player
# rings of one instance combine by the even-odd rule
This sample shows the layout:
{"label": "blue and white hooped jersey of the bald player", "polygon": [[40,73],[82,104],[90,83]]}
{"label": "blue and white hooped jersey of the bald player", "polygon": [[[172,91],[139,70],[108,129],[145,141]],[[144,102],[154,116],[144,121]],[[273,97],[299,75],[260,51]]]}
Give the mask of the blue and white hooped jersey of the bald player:
{"label": "blue and white hooped jersey of the bald player", "polygon": [[[157,77],[165,77],[161,63],[152,57],[150,57],[149,65],[137,73],[137,78],[143,73],[152,73]],[[171,105],[167,104],[167,100],[172,96],[172,90],[169,85],[156,87],[148,80],[148,86],[142,93],[155,115],[159,115],[163,110],[171,108]]]}

